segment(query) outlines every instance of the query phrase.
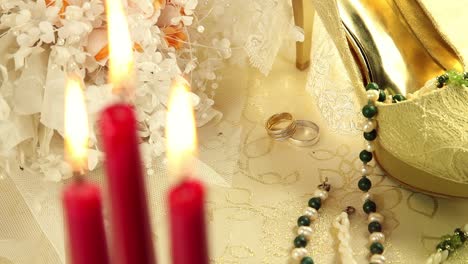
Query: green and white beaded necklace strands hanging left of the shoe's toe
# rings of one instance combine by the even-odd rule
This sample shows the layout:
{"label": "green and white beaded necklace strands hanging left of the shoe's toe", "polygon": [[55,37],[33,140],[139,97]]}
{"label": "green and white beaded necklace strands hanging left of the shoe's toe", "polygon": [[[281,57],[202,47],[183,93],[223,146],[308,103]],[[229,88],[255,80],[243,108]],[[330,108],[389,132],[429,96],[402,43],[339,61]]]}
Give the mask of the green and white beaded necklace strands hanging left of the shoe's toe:
{"label": "green and white beaded necklace strands hanging left of the shoe's toe", "polygon": [[[377,205],[372,201],[372,195],[369,193],[372,187],[372,182],[368,176],[370,174],[370,167],[368,163],[373,158],[374,143],[373,141],[377,138],[377,121],[375,116],[377,115],[377,107],[375,106],[376,101],[385,101],[385,92],[380,91],[379,87],[375,83],[370,83],[366,87],[367,97],[369,103],[362,109],[362,114],[368,118],[364,124],[364,138],[366,139],[365,150],[359,153],[359,159],[363,162],[361,169],[362,178],[358,182],[358,188],[364,192],[363,195],[363,206],[362,209],[368,214],[368,230],[370,233],[369,250],[371,257],[369,263],[371,264],[384,264],[385,257],[382,255],[384,246],[382,245],[385,241],[385,235],[382,233],[382,223],[384,220],[383,215],[376,213]],[[307,246],[312,229],[310,224],[312,221],[318,218],[318,210],[322,205],[322,201],[328,197],[328,191],[331,186],[327,183],[327,180],[318,186],[318,189],[314,193],[314,197],[309,200],[309,207],[305,210],[303,216],[299,217],[298,224],[298,236],[294,239],[294,246],[291,256],[295,260],[299,260],[300,264],[313,264],[314,261],[310,256],[307,256]],[[348,207],[349,209],[350,207]],[[348,212],[349,213],[349,212]],[[349,219],[348,213],[342,213],[334,222],[335,228],[338,229],[338,238],[340,240],[339,252],[343,263],[355,264],[353,252],[349,245],[350,234],[349,234]]]}

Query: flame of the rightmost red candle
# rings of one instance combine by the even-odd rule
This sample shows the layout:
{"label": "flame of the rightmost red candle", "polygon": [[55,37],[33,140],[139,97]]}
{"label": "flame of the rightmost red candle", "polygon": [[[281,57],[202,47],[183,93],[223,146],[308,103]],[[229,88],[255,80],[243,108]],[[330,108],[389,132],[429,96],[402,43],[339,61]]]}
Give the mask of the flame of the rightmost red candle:
{"label": "flame of the rightmost red candle", "polygon": [[197,144],[191,94],[185,79],[173,82],[166,120],[169,172],[177,180],[188,176]]}

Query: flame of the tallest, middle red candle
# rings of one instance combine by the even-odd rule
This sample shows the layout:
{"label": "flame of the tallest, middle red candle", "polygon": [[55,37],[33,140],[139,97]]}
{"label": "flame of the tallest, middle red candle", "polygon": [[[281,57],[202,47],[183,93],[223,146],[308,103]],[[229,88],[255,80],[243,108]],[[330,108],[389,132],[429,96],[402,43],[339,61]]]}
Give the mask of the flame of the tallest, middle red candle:
{"label": "flame of the tallest, middle red candle", "polygon": [[[121,0],[106,0],[109,79],[114,92],[129,93],[133,81],[133,43]],[[123,90],[123,91],[122,91]]]}

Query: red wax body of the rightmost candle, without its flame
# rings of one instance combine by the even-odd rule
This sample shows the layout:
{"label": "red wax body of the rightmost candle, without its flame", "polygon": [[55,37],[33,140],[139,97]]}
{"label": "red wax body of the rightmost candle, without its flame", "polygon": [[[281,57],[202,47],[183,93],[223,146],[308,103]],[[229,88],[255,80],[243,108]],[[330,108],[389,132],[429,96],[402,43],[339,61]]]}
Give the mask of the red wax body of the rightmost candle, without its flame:
{"label": "red wax body of the rightmost candle, without its flame", "polygon": [[173,264],[208,264],[205,227],[205,190],[187,179],[169,192]]}

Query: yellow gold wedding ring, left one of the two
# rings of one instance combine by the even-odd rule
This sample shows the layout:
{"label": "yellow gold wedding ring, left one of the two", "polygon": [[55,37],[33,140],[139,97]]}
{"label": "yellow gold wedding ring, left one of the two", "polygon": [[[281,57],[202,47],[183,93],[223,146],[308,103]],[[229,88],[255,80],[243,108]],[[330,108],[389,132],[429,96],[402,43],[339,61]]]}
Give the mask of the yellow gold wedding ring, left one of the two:
{"label": "yellow gold wedding ring, left one of the two", "polygon": [[268,119],[265,128],[273,139],[286,140],[296,132],[296,120],[290,113],[279,113]]}

